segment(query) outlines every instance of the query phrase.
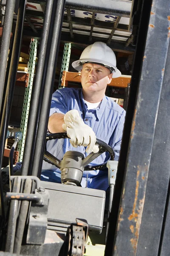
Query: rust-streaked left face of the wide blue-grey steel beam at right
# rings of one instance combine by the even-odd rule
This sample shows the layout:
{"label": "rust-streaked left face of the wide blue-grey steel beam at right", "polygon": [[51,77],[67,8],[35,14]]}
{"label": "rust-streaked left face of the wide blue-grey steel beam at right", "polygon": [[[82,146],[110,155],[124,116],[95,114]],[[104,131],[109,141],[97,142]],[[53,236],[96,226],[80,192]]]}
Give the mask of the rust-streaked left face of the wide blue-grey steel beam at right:
{"label": "rust-streaked left face of the wide blue-grey steel beam at right", "polygon": [[[133,114],[127,155],[125,183],[119,209],[114,256],[141,255],[138,241],[142,223],[147,177],[150,168],[159,97],[164,79],[170,38],[169,3],[153,0],[148,23],[147,40],[142,56],[136,107]],[[161,25],[159,20],[162,20]],[[159,63],[156,62],[159,56]],[[156,70],[156,72],[154,72]],[[154,76],[152,76],[152,72]],[[138,86],[138,84],[135,84]],[[153,92],[154,95],[153,95]],[[154,106],[154,107],[153,107]]]}

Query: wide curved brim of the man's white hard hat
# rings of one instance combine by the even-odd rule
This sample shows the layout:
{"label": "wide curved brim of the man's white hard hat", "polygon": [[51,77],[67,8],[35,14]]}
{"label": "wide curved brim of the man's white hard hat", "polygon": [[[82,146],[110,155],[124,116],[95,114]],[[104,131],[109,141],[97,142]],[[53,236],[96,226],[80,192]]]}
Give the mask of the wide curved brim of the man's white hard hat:
{"label": "wide curved brim of the man's white hard hat", "polygon": [[117,78],[117,77],[122,75],[122,73],[120,72],[120,70],[117,69],[117,67],[111,65],[107,61],[105,61],[105,63],[104,63],[102,61],[99,61],[98,59],[89,59],[89,58],[79,59],[78,61],[74,61],[72,63],[72,67],[74,67],[74,69],[77,70],[77,71],[81,71],[82,70],[82,65],[80,65],[80,62],[84,62],[84,61],[89,61],[89,62],[92,62],[92,63],[95,62],[95,63],[107,65],[109,67],[113,67],[115,72],[113,73],[112,78]]}

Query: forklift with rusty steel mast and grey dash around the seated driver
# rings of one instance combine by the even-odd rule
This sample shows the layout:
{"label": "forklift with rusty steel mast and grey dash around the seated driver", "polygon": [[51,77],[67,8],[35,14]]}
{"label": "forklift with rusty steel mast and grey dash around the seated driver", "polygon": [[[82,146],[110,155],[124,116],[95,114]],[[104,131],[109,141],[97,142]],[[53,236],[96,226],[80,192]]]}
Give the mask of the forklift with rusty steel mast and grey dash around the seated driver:
{"label": "forklift with rusty steel mast and grey dash around the seated driver", "polygon": [[[26,5],[31,3],[44,7],[41,35],[29,19],[34,33],[29,34],[30,31],[24,29]],[[12,157],[22,137],[19,132],[15,134],[9,155],[9,190],[5,196],[3,172],[0,172],[0,256],[168,256],[170,2],[1,0],[0,6],[3,24],[0,47],[0,169],[5,141],[9,136],[8,122],[22,37],[41,37],[23,166],[21,173],[14,174]],[[99,139],[96,140],[99,152],[86,158],[79,152],[68,151],[63,159],[57,159],[45,150],[46,141],[68,138],[65,133],[47,135],[59,42],[65,38],[62,34],[65,8],[71,35],[69,10],[92,12],[93,18],[95,13],[130,17],[132,34],[126,46],[119,43],[120,50],[135,48],[119,163],[114,161],[113,149]],[[17,15],[15,27],[14,13]],[[109,38],[118,26],[119,17]],[[94,27],[95,23],[90,22]],[[72,35],[70,42],[74,40],[77,44],[85,44],[83,37],[74,38]],[[91,37],[87,44],[92,44],[93,40],[101,38]],[[117,47],[109,40],[108,45],[111,43]],[[90,170],[91,161],[106,151],[110,154],[107,167],[111,188],[107,215],[105,191],[80,186],[84,169]],[[40,180],[43,160],[61,169],[61,184]],[[95,168],[102,169],[103,165]],[[92,244],[91,237],[96,237],[97,241],[102,230],[105,230],[104,243]]]}

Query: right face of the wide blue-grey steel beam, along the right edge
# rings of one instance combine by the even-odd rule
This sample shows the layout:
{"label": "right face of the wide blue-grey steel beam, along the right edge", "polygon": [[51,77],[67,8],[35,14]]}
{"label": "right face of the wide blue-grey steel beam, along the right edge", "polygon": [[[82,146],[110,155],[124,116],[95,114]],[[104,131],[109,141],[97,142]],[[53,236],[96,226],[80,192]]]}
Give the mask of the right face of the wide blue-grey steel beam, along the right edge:
{"label": "right face of the wide blue-grey steel beam, along the right edge", "polygon": [[[162,34],[165,33],[165,35],[168,18],[164,15],[165,29]],[[165,45],[162,45],[164,39],[164,35],[157,35],[157,44],[163,47],[162,52],[165,50]],[[170,254],[170,41],[165,61],[137,249],[137,255],[142,254],[142,256],[167,256]]]}

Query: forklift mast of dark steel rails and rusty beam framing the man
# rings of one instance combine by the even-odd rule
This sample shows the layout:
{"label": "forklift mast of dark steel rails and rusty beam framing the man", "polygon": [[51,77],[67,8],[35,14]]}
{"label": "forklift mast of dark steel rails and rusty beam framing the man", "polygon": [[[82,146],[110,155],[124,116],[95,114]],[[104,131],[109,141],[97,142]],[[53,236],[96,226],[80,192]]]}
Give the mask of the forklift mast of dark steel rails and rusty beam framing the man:
{"label": "forklift mast of dark steel rails and rusty beam framing the man", "polygon": [[[37,34],[41,40],[21,177],[34,176],[35,183],[36,178],[40,178],[59,43],[60,38],[64,38],[64,9],[130,15],[130,40],[136,48],[105,256],[169,255],[170,1],[1,0],[5,16],[0,48],[0,169],[23,33],[26,36],[27,2],[45,3],[45,10],[42,33],[35,31],[32,37],[36,38]],[[16,27],[12,25],[14,13],[17,14]],[[75,38],[72,40],[84,44],[81,36]],[[94,41],[93,38],[87,44]],[[5,219],[0,174],[1,230]]]}

